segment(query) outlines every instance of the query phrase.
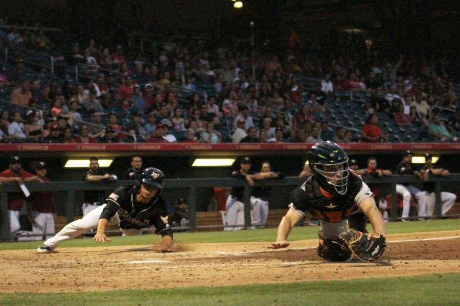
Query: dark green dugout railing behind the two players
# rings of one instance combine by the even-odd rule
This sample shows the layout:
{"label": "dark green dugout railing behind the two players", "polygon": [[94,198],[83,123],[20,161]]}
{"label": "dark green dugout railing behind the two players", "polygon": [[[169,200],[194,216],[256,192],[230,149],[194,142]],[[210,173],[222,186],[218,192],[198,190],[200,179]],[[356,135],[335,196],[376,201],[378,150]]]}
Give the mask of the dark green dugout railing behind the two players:
{"label": "dark green dugout railing behind the two players", "polygon": [[[363,176],[363,181],[367,184],[382,184],[389,185],[390,194],[392,195],[392,207],[391,207],[391,220],[398,220],[398,205],[397,205],[397,194],[396,184],[404,183],[420,183],[420,180],[416,176],[410,175],[390,175],[383,177]],[[256,186],[286,186],[294,188],[297,185],[305,182],[305,178],[301,177],[285,177],[281,180],[265,180],[256,181]],[[460,182],[460,173],[453,173],[449,176],[433,176],[430,175],[428,182],[435,183],[435,212],[436,216],[441,216],[441,191],[443,183],[456,183]],[[76,192],[84,190],[113,190],[114,188],[121,185],[134,184],[135,181],[115,181],[112,183],[88,183],[88,182],[50,182],[47,184],[42,183],[25,183],[26,187],[30,192],[38,191],[61,191],[66,193],[66,217],[67,222],[74,221],[75,218],[75,206],[79,203],[75,202]],[[189,226],[186,228],[189,231],[196,231],[196,189],[197,188],[215,188],[215,187],[244,187],[244,227],[251,228],[251,216],[250,216],[250,187],[246,180],[239,179],[176,179],[166,180],[165,189],[188,189],[188,202],[189,202]],[[455,190],[457,191],[457,190]],[[0,184],[0,238],[2,240],[10,240],[10,222],[8,216],[8,193],[22,192],[18,184],[15,183],[3,183]],[[221,227],[235,227],[241,226],[238,224],[228,225],[213,225],[215,228]],[[203,226],[204,227],[210,227]]]}

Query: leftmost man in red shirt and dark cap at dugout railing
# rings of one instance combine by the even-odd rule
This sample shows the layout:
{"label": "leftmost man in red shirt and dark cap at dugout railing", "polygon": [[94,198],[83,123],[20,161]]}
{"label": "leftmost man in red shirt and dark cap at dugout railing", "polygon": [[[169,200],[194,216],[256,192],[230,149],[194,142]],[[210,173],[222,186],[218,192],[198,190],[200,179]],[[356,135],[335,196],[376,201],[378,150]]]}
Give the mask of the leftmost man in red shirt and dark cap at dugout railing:
{"label": "leftmost man in red shirt and dark cap at dugout railing", "polygon": [[[33,175],[21,169],[21,159],[13,156],[9,160],[9,168],[0,173],[0,183],[14,183],[22,184],[24,182],[38,182],[38,176]],[[23,193],[9,193],[8,194],[8,216],[10,218],[10,232],[15,234],[20,230],[19,225],[19,211],[24,205],[25,195]],[[34,224],[32,211],[28,205],[28,217],[31,224]]]}

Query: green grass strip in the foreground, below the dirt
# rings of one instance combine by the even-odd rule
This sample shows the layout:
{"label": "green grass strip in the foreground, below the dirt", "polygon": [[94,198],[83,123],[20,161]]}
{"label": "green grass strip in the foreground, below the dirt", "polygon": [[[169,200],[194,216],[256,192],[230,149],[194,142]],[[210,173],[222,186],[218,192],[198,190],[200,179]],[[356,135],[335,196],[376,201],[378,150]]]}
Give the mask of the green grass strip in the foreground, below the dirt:
{"label": "green grass strip in the foreground, below the dirt", "polygon": [[[308,275],[306,275],[308,278]],[[275,285],[0,294],[3,305],[458,305],[460,273]],[[18,290],[20,290],[18,288]]]}

